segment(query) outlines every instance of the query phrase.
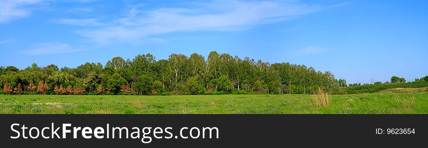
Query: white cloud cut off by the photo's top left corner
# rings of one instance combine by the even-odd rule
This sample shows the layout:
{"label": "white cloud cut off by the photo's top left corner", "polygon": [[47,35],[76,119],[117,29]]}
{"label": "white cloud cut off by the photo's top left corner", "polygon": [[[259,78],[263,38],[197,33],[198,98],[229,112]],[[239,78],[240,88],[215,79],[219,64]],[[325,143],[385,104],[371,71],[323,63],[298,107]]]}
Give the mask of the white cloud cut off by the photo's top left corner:
{"label": "white cloud cut off by the photo's top left corner", "polygon": [[48,0],[0,0],[0,23],[7,23],[30,15],[26,6]]}

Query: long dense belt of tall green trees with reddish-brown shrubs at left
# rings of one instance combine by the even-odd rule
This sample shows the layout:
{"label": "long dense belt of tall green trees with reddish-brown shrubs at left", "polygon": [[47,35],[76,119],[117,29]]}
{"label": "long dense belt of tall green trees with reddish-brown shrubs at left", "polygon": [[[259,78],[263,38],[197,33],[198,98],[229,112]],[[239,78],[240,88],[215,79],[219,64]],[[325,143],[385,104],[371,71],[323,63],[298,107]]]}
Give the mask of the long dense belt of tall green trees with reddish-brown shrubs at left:
{"label": "long dense belt of tall green trees with reddish-brown shrubs at left", "polygon": [[[114,57],[103,66],[85,63],[75,68],[55,65],[25,69],[0,67],[5,94],[85,95],[215,95],[309,94],[319,87],[330,91],[347,86],[330,71],[289,63],[270,64],[227,53],[208,58],[173,53],[157,61],[150,53],[132,60]],[[15,90],[16,89],[16,90]]]}

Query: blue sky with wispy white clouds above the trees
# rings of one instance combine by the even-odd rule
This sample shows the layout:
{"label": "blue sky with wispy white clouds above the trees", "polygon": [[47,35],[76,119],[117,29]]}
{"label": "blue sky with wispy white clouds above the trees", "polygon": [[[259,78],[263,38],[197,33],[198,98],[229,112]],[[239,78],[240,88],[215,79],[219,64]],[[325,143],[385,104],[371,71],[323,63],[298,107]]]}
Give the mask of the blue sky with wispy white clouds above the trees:
{"label": "blue sky with wispy white clouds above the trees", "polygon": [[0,66],[103,65],[210,51],[330,70],[428,75],[427,0],[0,0]]}

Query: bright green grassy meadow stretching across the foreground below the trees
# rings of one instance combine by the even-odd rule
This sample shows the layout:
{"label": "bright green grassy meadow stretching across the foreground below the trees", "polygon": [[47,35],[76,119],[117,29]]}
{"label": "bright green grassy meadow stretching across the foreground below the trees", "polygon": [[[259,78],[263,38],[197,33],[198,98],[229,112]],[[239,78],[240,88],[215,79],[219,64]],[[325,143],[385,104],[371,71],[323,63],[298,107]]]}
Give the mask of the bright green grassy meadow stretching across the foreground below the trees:
{"label": "bright green grassy meadow stretching across the foreground below the trees", "polygon": [[428,114],[428,93],[328,95],[0,95],[0,114]]}

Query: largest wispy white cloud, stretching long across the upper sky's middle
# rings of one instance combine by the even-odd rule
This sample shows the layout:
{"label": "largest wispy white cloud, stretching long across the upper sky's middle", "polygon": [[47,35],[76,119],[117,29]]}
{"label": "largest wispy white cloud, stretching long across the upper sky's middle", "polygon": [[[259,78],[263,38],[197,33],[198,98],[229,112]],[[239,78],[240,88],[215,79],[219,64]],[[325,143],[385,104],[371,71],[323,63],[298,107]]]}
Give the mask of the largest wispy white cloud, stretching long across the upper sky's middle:
{"label": "largest wispy white cloud, stretching long across the upper sky's middle", "polygon": [[192,8],[143,9],[131,7],[128,15],[113,25],[79,31],[92,41],[138,42],[151,35],[180,31],[243,31],[257,25],[292,19],[323,9],[295,1],[214,0],[196,3]]}

